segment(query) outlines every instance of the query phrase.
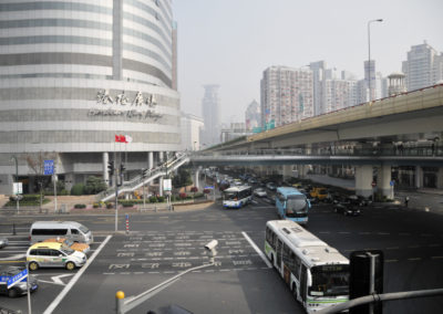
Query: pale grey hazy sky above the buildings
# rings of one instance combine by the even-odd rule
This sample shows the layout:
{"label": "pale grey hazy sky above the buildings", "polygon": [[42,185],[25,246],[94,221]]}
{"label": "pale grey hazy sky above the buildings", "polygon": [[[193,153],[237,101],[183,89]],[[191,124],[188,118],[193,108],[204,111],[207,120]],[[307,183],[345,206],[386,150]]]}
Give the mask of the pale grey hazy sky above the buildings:
{"label": "pale grey hazy sky above the buildings", "polygon": [[178,23],[182,111],[202,116],[203,85],[219,84],[222,122],[244,122],[260,102],[260,78],[270,65],[328,67],[363,77],[368,60],[378,72],[401,71],[411,45],[424,40],[443,51],[442,0],[174,0]]}

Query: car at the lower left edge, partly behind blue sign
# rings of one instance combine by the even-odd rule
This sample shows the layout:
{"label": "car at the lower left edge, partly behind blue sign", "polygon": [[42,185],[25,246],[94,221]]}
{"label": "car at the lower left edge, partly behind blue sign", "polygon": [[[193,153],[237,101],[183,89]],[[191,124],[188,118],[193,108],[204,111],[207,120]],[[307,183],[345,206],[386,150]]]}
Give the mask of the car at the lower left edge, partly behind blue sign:
{"label": "car at the lower left edge, partly behind blue sign", "polygon": [[24,268],[20,266],[0,266],[0,294],[8,295],[9,297],[16,297],[19,295],[27,294],[27,283],[29,280],[29,291],[34,292],[39,287],[39,282],[33,275],[29,275],[28,279],[22,279],[19,283],[8,289],[8,280],[13,279],[18,274],[24,271]]}

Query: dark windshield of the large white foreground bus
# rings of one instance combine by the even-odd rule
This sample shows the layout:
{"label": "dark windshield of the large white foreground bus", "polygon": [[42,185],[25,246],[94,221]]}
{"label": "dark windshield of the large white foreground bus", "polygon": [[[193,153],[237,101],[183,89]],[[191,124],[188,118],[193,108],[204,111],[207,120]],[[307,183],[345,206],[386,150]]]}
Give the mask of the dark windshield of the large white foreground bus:
{"label": "dark windshield of the large white foreground bus", "polygon": [[338,296],[349,294],[349,265],[313,266],[311,296]]}

